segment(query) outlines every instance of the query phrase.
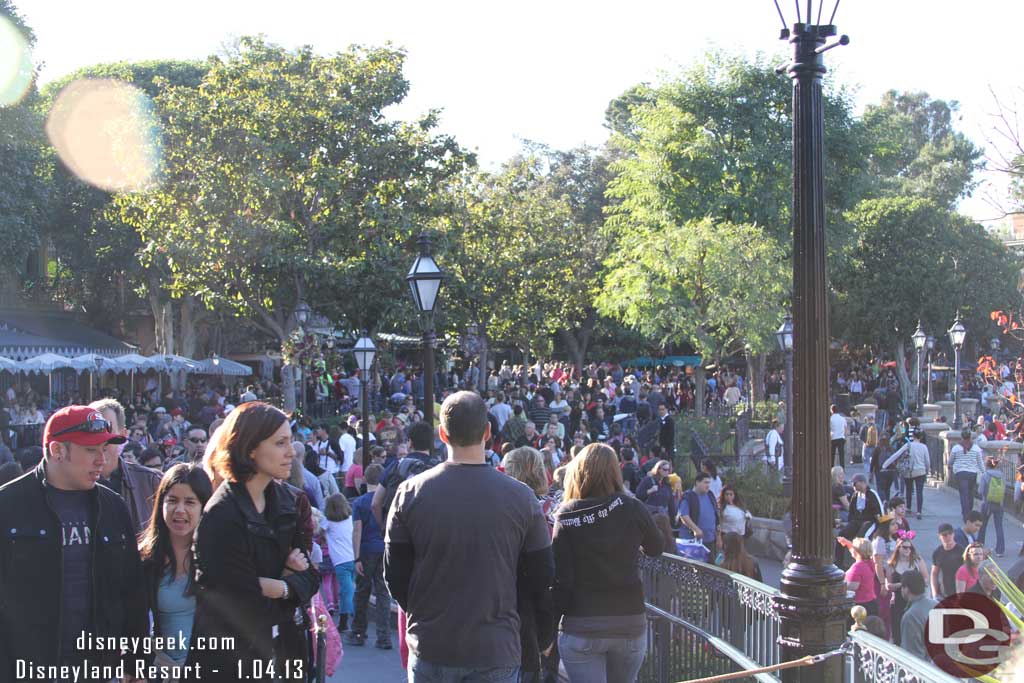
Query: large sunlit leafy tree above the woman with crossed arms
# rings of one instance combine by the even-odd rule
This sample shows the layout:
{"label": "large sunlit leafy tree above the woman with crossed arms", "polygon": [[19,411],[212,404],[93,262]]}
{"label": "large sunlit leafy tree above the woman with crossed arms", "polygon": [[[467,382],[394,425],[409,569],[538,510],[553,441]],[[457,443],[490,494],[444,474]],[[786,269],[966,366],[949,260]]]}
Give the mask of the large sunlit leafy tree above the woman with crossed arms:
{"label": "large sunlit leafy tree above the woman with crossed arms", "polygon": [[403,62],[391,48],[324,56],[243,38],[199,87],[162,88],[161,183],[117,205],[144,257],[166,259],[170,291],[281,343],[300,299],[352,328],[408,315],[416,226],[445,209],[438,190],[468,157],[433,132],[435,112],[385,117],[409,90]]}

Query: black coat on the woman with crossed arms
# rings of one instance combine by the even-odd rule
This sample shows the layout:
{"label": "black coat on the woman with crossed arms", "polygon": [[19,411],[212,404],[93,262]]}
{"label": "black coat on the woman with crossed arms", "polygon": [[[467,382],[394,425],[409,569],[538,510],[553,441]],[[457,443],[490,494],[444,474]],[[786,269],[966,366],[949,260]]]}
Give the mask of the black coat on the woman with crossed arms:
{"label": "black coat on the woman with crossed arms", "polygon": [[[305,571],[285,577],[286,600],[263,597],[259,586],[261,577],[281,578],[293,548],[306,552],[294,488],[271,482],[264,514],[256,511],[243,483],[225,481],[213,494],[196,530],[199,591],[193,641],[230,637],[234,648],[189,652],[188,664],[203,667],[204,681],[237,681],[240,666],[243,678],[256,676],[260,673],[253,669],[256,659],[276,659],[278,675],[285,671],[284,659],[306,659],[303,627],[295,624],[295,613],[319,590],[319,572],[310,564]],[[281,637],[276,648],[274,627]],[[306,674],[308,667],[305,661]]]}

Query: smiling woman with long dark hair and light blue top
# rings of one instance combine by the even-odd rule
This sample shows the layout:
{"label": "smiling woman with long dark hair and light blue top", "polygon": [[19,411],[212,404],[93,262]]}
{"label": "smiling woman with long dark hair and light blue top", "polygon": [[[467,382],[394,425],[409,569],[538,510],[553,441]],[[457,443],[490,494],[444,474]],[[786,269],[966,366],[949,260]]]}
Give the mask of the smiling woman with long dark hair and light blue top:
{"label": "smiling woman with long dark hair and light blue top", "polygon": [[[191,543],[203,508],[213,495],[210,478],[195,465],[167,470],[154,501],[150,523],[138,542],[146,594],[153,613],[153,633],[168,643],[187,643],[196,614],[196,587],[191,571]],[[157,653],[157,666],[185,661],[184,649]]]}

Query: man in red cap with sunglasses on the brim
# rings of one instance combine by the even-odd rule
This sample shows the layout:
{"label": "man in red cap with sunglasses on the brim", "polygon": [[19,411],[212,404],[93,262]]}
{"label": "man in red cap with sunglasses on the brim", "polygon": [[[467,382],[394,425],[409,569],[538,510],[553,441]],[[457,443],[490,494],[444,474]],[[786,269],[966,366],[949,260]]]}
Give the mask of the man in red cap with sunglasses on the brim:
{"label": "man in red cap with sunglasses on the brim", "polygon": [[[117,650],[78,649],[83,632],[148,634],[135,525],[121,497],[96,485],[104,446],[124,441],[98,411],[62,408],[44,428],[42,462],[0,488],[0,680],[15,680],[14,656],[34,667],[118,665]],[[135,655],[126,657],[135,671]]]}

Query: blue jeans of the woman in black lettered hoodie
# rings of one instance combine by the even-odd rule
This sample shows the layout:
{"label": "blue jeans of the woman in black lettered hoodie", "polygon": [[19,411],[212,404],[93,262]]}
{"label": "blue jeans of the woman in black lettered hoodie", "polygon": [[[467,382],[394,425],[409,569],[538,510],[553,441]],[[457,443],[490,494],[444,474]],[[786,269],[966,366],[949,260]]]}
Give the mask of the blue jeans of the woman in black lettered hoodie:
{"label": "blue jeans of the woman in black lettered hoodie", "polygon": [[637,638],[588,638],[558,634],[558,652],[569,683],[633,683],[647,650],[647,633]]}

